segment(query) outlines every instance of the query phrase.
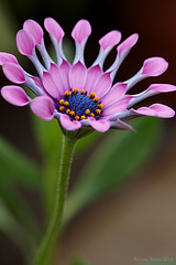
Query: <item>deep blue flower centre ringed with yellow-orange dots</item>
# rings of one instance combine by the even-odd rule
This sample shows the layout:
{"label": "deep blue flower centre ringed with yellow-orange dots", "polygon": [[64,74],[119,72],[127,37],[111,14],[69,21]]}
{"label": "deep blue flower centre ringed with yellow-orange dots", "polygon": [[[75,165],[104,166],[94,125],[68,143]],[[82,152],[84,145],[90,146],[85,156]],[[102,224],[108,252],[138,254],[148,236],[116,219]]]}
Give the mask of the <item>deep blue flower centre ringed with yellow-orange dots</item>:
{"label": "deep blue flower centre ringed with yellow-orange dots", "polygon": [[66,91],[61,99],[56,103],[56,108],[59,113],[69,115],[72,120],[87,119],[101,117],[103,105],[96,97],[95,92],[90,95],[84,89],[78,93],[77,88]]}

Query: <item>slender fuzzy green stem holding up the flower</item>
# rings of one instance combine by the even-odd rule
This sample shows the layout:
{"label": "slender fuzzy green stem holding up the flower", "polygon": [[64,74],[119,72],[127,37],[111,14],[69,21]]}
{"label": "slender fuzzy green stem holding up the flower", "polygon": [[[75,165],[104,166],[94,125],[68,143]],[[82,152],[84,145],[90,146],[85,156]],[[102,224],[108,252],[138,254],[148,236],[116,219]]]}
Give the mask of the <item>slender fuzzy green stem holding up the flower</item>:
{"label": "slender fuzzy green stem holding up the flower", "polygon": [[63,151],[59,165],[59,173],[55,189],[55,201],[53,214],[47,227],[47,231],[42,241],[41,247],[36,253],[33,265],[52,265],[52,248],[56,243],[58,232],[61,229],[62,216],[64,212],[64,204],[67,193],[68,178],[73,155],[76,146],[76,139],[63,136]]}

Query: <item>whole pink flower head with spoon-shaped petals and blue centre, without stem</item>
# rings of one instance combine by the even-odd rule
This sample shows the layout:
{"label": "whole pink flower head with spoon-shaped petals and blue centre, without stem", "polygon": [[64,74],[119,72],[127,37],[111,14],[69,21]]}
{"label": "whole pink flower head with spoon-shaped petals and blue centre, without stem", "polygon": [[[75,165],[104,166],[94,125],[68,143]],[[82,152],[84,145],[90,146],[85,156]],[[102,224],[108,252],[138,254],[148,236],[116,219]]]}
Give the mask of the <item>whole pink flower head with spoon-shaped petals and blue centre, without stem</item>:
{"label": "whole pink flower head with spoon-shaped petals and blue centre, without stem", "polygon": [[[168,64],[162,57],[146,59],[133,77],[112,85],[121,63],[139,39],[136,33],[121,44],[119,31],[107,33],[99,40],[100,51],[96,61],[87,67],[84,51],[91,34],[91,26],[87,20],[79,20],[72,32],[76,44],[73,64],[67,61],[63,51],[64,31],[61,25],[54,19],[46,18],[44,26],[55,47],[57,63],[46,51],[42,28],[35,21],[26,20],[23,29],[16,34],[16,45],[20,53],[32,61],[37,76],[25,72],[13,55],[1,52],[0,64],[4,75],[18,84],[2,87],[1,95],[6,100],[15,106],[30,104],[32,112],[38,117],[46,120],[58,119],[64,131],[78,131],[82,127],[101,132],[110,128],[133,130],[124,123],[127,119],[142,115],[162,118],[175,115],[172,108],[163,104],[133,108],[136,103],[148,96],[176,91],[174,85],[152,84],[140,94],[128,94],[138,82],[158,76],[166,71]],[[117,57],[113,64],[103,71],[103,62],[116,45]],[[38,59],[38,53],[43,62]],[[29,97],[20,84],[29,87],[36,97]]]}

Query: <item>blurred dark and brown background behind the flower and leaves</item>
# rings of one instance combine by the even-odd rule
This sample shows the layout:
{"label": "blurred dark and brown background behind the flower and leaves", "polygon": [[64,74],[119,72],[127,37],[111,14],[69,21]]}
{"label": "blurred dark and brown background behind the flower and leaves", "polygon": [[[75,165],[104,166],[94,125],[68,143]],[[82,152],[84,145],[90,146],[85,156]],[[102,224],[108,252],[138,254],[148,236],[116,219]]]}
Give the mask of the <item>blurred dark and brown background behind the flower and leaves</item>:
{"label": "blurred dark and brown background behind the flower and leaves", "polygon": [[[152,82],[176,84],[176,1],[175,0],[0,0],[0,50],[13,53],[19,62],[30,70],[29,61],[15,47],[16,31],[26,19],[33,19],[43,26],[44,18],[53,17],[69,39],[72,29],[79,19],[91,23],[92,34],[86,46],[86,62],[90,65],[98,53],[98,40],[108,31],[119,30],[122,40],[136,32],[140,34],[122,64],[117,81],[131,77],[151,56],[163,56],[169,67],[160,77],[150,78],[135,86],[132,92],[143,91]],[[109,65],[114,51],[107,60]],[[1,71],[1,86],[9,84]],[[176,109],[176,93],[153,97],[150,103],[160,102]],[[147,102],[147,103],[148,103]],[[0,98],[0,134],[10,142],[41,163],[37,146],[30,126],[29,108],[13,107]],[[129,132],[131,134],[131,132]],[[61,264],[69,264],[73,256],[85,258],[92,265],[131,265],[147,262],[176,264],[176,120],[162,121],[158,132],[160,145],[133,178],[82,210],[69,223],[62,241]],[[106,137],[106,136],[105,136]],[[117,131],[118,137],[118,131]],[[146,135],[147,137],[147,135]],[[85,152],[84,158],[91,152]],[[73,166],[77,174],[79,155]],[[72,183],[74,180],[72,180]],[[24,192],[23,190],[21,192]],[[24,197],[41,221],[41,203],[37,192],[24,192]],[[0,233],[1,264],[25,264],[19,248]],[[144,261],[147,259],[147,261]],[[14,262],[15,261],[15,262]],[[56,263],[57,264],[57,263]],[[75,262],[73,264],[81,264]],[[168,263],[170,264],[170,263]]]}

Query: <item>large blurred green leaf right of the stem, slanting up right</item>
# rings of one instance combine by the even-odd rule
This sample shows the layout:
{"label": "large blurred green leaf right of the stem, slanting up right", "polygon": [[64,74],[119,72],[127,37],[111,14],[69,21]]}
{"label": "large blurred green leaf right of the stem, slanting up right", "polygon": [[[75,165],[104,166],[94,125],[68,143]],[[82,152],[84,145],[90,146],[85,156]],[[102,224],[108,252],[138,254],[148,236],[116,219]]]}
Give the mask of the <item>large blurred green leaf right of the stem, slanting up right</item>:
{"label": "large blurred green leaf right of the stem, slanting up right", "polygon": [[148,161],[160,140],[160,120],[143,117],[133,127],[136,135],[130,131],[109,131],[106,135],[68,197],[64,222],[133,177]]}

